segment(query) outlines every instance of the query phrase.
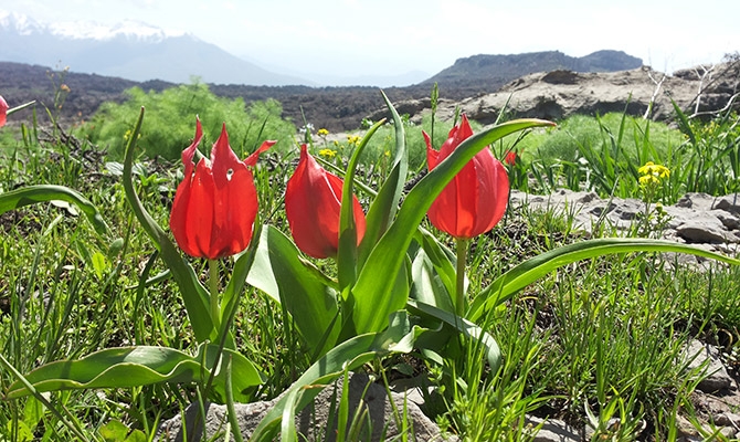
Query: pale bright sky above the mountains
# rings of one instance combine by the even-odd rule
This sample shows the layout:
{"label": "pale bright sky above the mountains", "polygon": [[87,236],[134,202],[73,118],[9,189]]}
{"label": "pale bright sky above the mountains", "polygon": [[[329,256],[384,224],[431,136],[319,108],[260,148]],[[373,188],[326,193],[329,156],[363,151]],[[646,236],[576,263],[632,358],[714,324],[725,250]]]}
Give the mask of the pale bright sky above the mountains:
{"label": "pale bright sky above the mountains", "polygon": [[672,73],[740,51],[738,0],[0,0],[42,22],[137,20],[284,73],[430,76],[476,54],[620,50]]}

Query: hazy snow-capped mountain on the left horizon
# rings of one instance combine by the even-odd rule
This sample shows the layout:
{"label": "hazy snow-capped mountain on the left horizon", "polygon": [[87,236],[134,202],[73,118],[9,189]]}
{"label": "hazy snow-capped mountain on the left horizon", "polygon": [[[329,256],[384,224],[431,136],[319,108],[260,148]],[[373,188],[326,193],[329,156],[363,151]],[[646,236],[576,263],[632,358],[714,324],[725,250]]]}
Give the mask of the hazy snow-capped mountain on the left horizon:
{"label": "hazy snow-capped mountain on the left horizon", "polygon": [[239,59],[190,33],[137,21],[115,27],[94,22],[41,23],[0,11],[0,61],[40,64],[134,81],[244,85],[310,85]]}

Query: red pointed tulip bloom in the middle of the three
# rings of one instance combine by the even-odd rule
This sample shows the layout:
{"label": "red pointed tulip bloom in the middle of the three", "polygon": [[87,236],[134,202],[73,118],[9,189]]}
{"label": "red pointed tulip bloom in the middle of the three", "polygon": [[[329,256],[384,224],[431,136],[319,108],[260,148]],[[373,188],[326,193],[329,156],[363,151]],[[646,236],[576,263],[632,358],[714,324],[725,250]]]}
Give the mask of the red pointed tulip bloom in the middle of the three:
{"label": "red pointed tulip bloom in the middle of the three", "polygon": [[[339,246],[342,180],[327,172],[300,146],[298,167],[285,189],[285,214],[298,249],[314,257],[334,257]],[[352,197],[357,243],[364,235],[364,213]]]}

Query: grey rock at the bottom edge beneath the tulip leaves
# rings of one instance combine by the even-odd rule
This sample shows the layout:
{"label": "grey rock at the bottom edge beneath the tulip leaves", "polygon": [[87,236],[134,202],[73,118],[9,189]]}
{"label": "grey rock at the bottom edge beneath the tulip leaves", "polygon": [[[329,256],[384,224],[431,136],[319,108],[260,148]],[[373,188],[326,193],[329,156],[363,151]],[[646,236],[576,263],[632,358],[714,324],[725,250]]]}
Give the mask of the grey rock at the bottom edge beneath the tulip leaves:
{"label": "grey rock at the bottom edge beneath the tulip leaves", "polygon": [[[337,393],[341,394],[341,380],[336,385]],[[296,427],[299,432],[299,439],[306,438],[308,441],[323,440],[334,441],[336,438],[335,430],[330,429],[330,419],[336,419],[336,410],[334,415],[331,408],[336,403],[336,398],[332,397],[335,389],[332,387],[325,388],[314,399],[313,407],[307,407],[300,414],[296,415]],[[392,400],[399,410],[406,410],[409,425],[413,434],[410,434],[417,441],[443,440],[438,427],[432,422],[419,407],[405,400],[405,396],[392,392]],[[254,429],[265,414],[275,406],[278,399],[272,401],[262,401],[254,403],[235,404],[236,420],[242,431],[242,435],[249,438],[254,432]],[[372,441],[380,441],[385,439],[398,438],[403,430],[399,429],[393,418],[393,409],[391,402],[388,400],[385,389],[378,385],[370,382],[366,375],[353,373],[349,380],[349,417],[350,420],[355,415],[358,407],[364,407],[368,418],[371,421]],[[193,403],[186,409],[184,421],[187,434],[193,436],[192,440],[205,439],[223,440],[223,432],[229,427],[226,419],[225,406],[207,404],[205,424],[198,422],[198,404]],[[336,425],[336,424],[335,424]],[[204,429],[204,430],[203,430]],[[367,425],[363,430],[368,430]],[[411,431],[411,430],[410,430]],[[203,434],[204,433],[204,434]],[[220,439],[219,439],[220,438]],[[410,438],[411,439],[411,438]],[[155,438],[159,442],[175,442],[183,440],[182,417],[177,415],[168,421],[165,421]],[[456,441],[457,438],[448,436],[446,440]]]}

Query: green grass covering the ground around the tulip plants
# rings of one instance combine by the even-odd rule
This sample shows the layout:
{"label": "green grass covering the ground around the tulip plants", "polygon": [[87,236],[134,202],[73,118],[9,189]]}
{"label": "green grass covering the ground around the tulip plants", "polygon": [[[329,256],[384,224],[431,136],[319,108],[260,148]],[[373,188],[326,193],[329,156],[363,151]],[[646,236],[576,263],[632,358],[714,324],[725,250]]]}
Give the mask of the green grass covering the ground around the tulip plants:
{"label": "green grass covering the ground around the tulip plants", "polygon": [[[116,114],[102,115],[113,119]],[[517,167],[525,168],[525,176],[531,179],[541,168],[572,162],[540,178],[530,189],[567,183],[586,190],[596,182],[585,179],[589,170],[589,177],[605,180],[600,191],[619,189],[638,197],[638,186],[626,182],[636,181],[631,168],[644,162],[647,152],[666,165],[680,160],[696,170],[731,170],[737,115],[721,118],[711,131],[695,123],[684,127],[691,138],[654,123],[648,128],[646,122],[622,115],[573,117],[559,129],[531,134],[515,146],[522,152]],[[191,127],[192,118],[187,120]],[[427,129],[427,125],[424,122],[422,127]],[[235,127],[242,129],[244,134],[252,130]],[[435,146],[447,130],[435,128]],[[422,169],[421,128],[406,131],[410,170]],[[0,388],[4,391],[15,380],[11,367],[28,373],[41,364],[78,358],[101,348],[158,345],[191,349],[194,337],[177,287],[167,277],[157,277],[165,267],[125,201],[118,167],[108,162],[119,158],[106,156],[91,137],[80,140],[61,130],[43,136],[33,123],[23,134],[14,140],[2,137],[0,189],[68,186],[102,210],[113,233],[102,238],[84,219],[53,204],[28,206],[0,215],[0,347],[8,362],[0,370]],[[371,183],[387,172],[383,161],[392,146],[388,143],[391,134],[392,128],[382,128],[369,148],[361,176]],[[272,136],[268,129],[265,135]],[[275,137],[284,139],[284,135],[276,133]],[[178,137],[186,147],[187,136]],[[314,141],[321,147],[321,139]],[[246,150],[249,146],[243,145]],[[351,151],[350,143],[343,146],[334,158],[338,164],[345,164]],[[579,156],[609,149],[614,152],[609,157],[614,159],[612,169],[607,164],[578,162]],[[265,156],[255,171],[261,215],[282,229],[287,229],[283,190],[295,158],[296,152],[284,146]],[[711,165],[701,161],[708,158]],[[138,172],[140,198],[166,227],[181,166],[141,157]],[[672,177],[676,176],[676,180],[688,177]],[[728,190],[712,183],[716,181],[707,180],[699,190]],[[694,189],[691,186],[672,181],[664,197],[674,198]],[[527,257],[579,241],[571,222],[567,213],[511,211],[490,233],[474,240],[469,292],[477,293],[494,275]],[[205,278],[205,263],[195,264]],[[684,344],[691,337],[713,341],[729,335],[733,340],[726,348],[728,360],[740,354],[740,272],[716,266],[699,273],[669,264],[649,254],[612,255],[570,265],[527,287],[484,318],[505,355],[500,369],[490,371],[475,343],[462,345],[459,354],[442,366],[427,365],[429,381],[438,394],[429,398],[426,412],[471,441],[531,439],[535,430],[527,415],[563,419],[575,425],[590,422],[595,429],[593,440],[634,440],[636,429],[643,427],[639,440],[672,440],[677,414],[691,413],[697,381],[697,373],[679,362]],[[236,345],[266,377],[252,397],[275,398],[308,368],[308,355],[278,305],[254,288],[247,288],[242,299],[234,319]],[[150,440],[163,419],[199,400],[197,388],[190,385],[74,390],[44,398],[47,404],[34,397],[1,402],[1,439],[124,440],[106,439],[123,428],[124,434],[135,431],[141,440]],[[621,424],[610,423],[612,418],[620,418]]]}

